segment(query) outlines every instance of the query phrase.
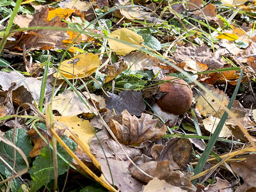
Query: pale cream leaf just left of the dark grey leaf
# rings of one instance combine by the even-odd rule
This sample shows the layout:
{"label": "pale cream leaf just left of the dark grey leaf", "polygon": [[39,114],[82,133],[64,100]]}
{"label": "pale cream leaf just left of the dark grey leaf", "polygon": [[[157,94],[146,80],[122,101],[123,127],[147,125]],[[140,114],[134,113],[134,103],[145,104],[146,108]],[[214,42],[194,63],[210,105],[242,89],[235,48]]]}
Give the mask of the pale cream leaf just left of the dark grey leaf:
{"label": "pale cream leaf just left of the dark grey leaf", "polygon": [[[72,90],[65,90],[65,92],[54,97],[52,101],[52,109],[59,111],[62,116],[74,116],[81,113],[96,112],[93,104],[88,102],[88,98],[90,98],[89,94],[87,92],[83,92],[83,95],[86,97],[84,100],[87,101],[86,103],[89,109]],[[81,95],[81,97],[84,97],[83,95]],[[98,105],[100,109],[106,107],[104,99],[101,96],[93,93],[90,95],[92,96],[93,102],[96,103],[96,106]]]}

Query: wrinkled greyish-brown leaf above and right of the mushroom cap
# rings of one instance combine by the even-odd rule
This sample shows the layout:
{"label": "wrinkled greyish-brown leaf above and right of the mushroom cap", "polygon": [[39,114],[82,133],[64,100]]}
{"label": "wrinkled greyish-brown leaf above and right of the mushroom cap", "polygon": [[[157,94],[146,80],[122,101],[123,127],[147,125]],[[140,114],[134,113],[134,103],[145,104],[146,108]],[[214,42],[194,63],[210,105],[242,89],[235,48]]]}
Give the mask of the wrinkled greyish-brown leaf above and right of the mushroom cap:
{"label": "wrinkled greyish-brown leaf above and right of the mushroom cap", "polygon": [[193,44],[188,44],[186,46],[177,45],[171,58],[177,63],[186,60],[198,61],[206,64],[209,69],[222,68],[225,64],[225,61],[221,60],[221,58],[215,58],[207,45],[204,45],[203,47],[197,47]]}

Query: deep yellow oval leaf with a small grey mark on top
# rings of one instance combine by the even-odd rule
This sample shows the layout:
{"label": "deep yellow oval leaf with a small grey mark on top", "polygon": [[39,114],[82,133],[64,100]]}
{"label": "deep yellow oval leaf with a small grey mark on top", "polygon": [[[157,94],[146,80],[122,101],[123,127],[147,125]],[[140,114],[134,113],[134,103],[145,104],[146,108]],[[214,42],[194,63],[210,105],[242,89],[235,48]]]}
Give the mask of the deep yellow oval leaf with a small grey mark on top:
{"label": "deep yellow oval leaf with a small grey mark on top", "polygon": [[[77,54],[70,60],[63,61],[60,65],[60,71],[67,79],[73,79],[76,77],[83,78],[90,76],[100,65],[100,59],[93,53]],[[54,77],[63,79],[60,74],[54,74]]]}

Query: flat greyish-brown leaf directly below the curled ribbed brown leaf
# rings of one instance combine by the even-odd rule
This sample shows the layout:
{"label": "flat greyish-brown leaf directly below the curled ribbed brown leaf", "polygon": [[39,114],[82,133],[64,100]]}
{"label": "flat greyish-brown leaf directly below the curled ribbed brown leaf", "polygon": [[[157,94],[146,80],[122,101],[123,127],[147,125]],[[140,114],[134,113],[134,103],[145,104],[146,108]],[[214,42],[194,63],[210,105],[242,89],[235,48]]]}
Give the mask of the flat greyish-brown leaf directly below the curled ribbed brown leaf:
{"label": "flat greyish-brown leaf directly below the curled ribbed brown leaf", "polygon": [[[98,140],[99,139],[99,140]],[[100,143],[99,143],[100,141]],[[101,145],[100,145],[101,144]],[[122,144],[120,144],[122,145]],[[102,146],[102,147],[101,147]],[[126,154],[133,159],[136,156],[141,156],[141,151],[138,148],[134,147],[127,147],[125,145],[122,145],[124,148]],[[103,150],[105,152],[103,152]],[[92,154],[95,155],[98,159],[105,159],[105,156],[108,159],[116,159],[118,161],[123,160],[127,161],[127,156],[125,155],[124,151],[116,141],[111,139],[106,132],[106,129],[103,129],[102,131],[97,132],[97,137],[93,136],[93,138],[90,140],[90,150]]]}

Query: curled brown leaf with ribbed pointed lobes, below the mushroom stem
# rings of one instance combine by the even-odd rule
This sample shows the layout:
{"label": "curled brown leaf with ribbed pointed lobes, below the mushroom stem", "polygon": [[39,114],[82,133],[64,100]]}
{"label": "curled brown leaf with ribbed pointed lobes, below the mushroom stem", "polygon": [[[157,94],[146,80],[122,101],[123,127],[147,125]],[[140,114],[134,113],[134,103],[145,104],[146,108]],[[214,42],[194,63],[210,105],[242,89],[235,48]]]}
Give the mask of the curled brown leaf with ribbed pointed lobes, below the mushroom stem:
{"label": "curled brown leaf with ribbed pointed lobes, below the mushroom stem", "polygon": [[110,129],[117,140],[124,145],[142,143],[147,140],[158,140],[164,136],[166,125],[160,129],[156,127],[158,119],[152,119],[152,115],[141,114],[140,118],[131,116],[125,109],[122,116],[114,116],[110,121]]}

